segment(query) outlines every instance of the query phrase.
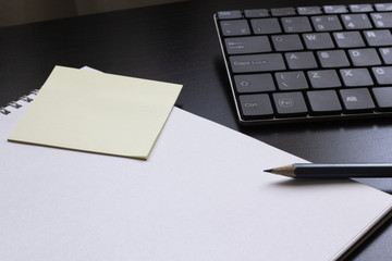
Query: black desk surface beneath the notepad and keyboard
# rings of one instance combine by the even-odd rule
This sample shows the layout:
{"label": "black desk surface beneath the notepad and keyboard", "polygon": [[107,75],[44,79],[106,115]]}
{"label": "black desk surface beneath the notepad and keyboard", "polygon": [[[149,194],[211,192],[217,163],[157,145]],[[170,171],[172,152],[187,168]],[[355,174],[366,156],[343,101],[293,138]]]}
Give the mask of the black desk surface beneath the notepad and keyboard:
{"label": "black desk surface beneath the notepad and keyboard", "polygon": [[[292,5],[289,0],[260,3],[191,1],[0,28],[0,104],[39,88],[56,64],[89,65],[183,84],[179,107],[313,162],[392,162],[392,119],[255,128],[237,124],[212,14]],[[360,182],[392,192],[392,178]],[[389,221],[351,259],[391,260],[391,243]]]}

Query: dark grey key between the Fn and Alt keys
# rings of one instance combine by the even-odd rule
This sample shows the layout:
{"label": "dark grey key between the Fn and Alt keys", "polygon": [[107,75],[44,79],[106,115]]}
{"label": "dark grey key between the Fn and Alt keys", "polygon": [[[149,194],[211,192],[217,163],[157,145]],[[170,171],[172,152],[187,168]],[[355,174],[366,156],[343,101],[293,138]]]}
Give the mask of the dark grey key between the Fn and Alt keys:
{"label": "dark grey key between the Fn and Alt keys", "polygon": [[342,105],[334,90],[308,91],[307,97],[311,114],[336,114],[342,112]]}

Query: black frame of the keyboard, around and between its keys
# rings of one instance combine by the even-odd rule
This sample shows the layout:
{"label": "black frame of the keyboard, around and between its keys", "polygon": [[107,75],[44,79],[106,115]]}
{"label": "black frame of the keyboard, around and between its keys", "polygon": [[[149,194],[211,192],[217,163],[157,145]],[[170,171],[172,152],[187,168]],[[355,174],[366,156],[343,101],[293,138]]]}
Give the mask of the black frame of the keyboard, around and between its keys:
{"label": "black frame of the keyboard, around and between its keys", "polygon": [[[336,5],[334,5],[336,7]],[[341,5],[341,7],[345,7],[345,5]],[[375,7],[373,4],[371,4],[371,7]],[[391,4],[392,7],[392,4]],[[316,7],[318,8],[318,7]],[[355,14],[353,12],[350,12],[350,8],[351,7],[345,7],[347,10],[348,10],[348,13],[346,14]],[[324,10],[324,7],[320,7],[319,8],[321,10],[322,13],[318,13],[318,14],[306,14],[306,15],[299,15],[298,14],[298,9],[290,9],[291,11],[294,10],[295,11],[295,15],[287,15],[285,16],[284,14],[281,14],[279,13],[280,11],[284,12],[285,10],[284,9],[274,9],[274,10],[268,10],[268,14],[269,14],[269,17],[278,17],[278,18],[282,18],[282,17],[301,17],[301,16],[307,16],[310,21],[310,18],[313,16],[317,16],[317,15],[328,15],[328,14],[335,14],[335,15],[342,15],[342,14],[345,14],[345,13],[324,13],[323,10]],[[275,15],[277,16],[272,16],[271,14],[273,12],[275,12]],[[237,11],[235,11],[237,12]],[[367,12],[369,17],[370,17],[370,13],[378,13],[378,12],[388,12],[388,13],[392,13],[391,10],[376,10],[372,11],[372,12]],[[246,18],[245,17],[245,11],[240,11],[241,13],[241,16],[238,17],[234,17],[232,20],[247,20],[248,23],[250,24],[250,18]],[[219,37],[219,41],[220,41],[220,46],[221,46],[221,50],[222,50],[222,53],[223,53],[223,58],[224,58],[224,63],[225,63],[225,67],[226,67],[226,72],[228,72],[228,75],[229,75],[229,82],[230,82],[230,86],[231,86],[231,90],[232,90],[232,95],[234,97],[234,103],[235,103],[235,109],[236,109],[236,112],[237,112],[237,116],[238,116],[238,120],[240,120],[240,123],[242,125],[259,125],[259,124],[278,124],[278,123],[296,123],[296,122],[310,122],[310,121],[326,121],[326,120],[345,120],[345,119],[368,119],[368,117],[380,117],[380,116],[391,116],[392,115],[392,105],[391,108],[380,108],[379,104],[377,103],[376,99],[375,99],[375,95],[372,94],[372,91],[369,90],[373,101],[375,101],[375,109],[373,110],[358,110],[358,111],[348,111],[343,101],[342,101],[342,98],[340,98],[340,102],[341,102],[341,105],[342,105],[342,110],[341,112],[339,113],[335,113],[335,114],[317,114],[317,113],[311,113],[311,109],[310,109],[310,105],[309,105],[309,100],[308,98],[304,95],[304,98],[305,98],[305,103],[306,103],[306,107],[307,107],[307,110],[308,112],[307,113],[302,113],[302,114],[298,114],[296,115],[295,113],[292,114],[292,115],[282,115],[282,114],[279,114],[278,110],[277,110],[277,105],[273,103],[273,97],[272,97],[272,94],[279,94],[279,92],[282,92],[282,90],[279,90],[278,87],[275,90],[267,90],[265,92],[249,92],[249,95],[259,95],[259,94],[262,94],[262,95],[267,95],[269,96],[270,100],[271,100],[271,103],[272,103],[272,112],[271,112],[271,115],[267,115],[267,116],[244,116],[244,112],[243,112],[243,108],[241,105],[241,101],[240,101],[240,94],[235,87],[235,80],[234,80],[234,75],[244,75],[244,74],[250,74],[250,73],[247,73],[247,72],[236,72],[236,73],[233,73],[233,65],[231,64],[231,61],[230,61],[230,57],[238,57],[238,55],[242,55],[241,53],[237,53],[237,54],[229,54],[228,53],[228,50],[226,50],[226,47],[225,47],[225,42],[224,42],[224,39],[225,37],[223,36],[222,34],[222,28],[221,28],[221,25],[220,25],[220,21],[222,20],[219,20],[218,17],[218,13],[213,15],[213,20],[215,20],[215,23],[216,23],[216,28],[217,28],[217,32],[218,32],[218,37]],[[340,20],[342,21],[342,20]],[[343,25],[343,23],[342,23]],[[250,29],[252,29],[252,26],[249,25]],[[376,28],[372,24],[372,28],[369,28],[370,30],[371,29],[380,29],[380,28]],[[342,30],[339,30],[339,32],[351,32],[351,30],[347,30],[343,27]],[[311,32],[309,33],[320,33],[320,32],[316,32],[315,29],[313,29]],[[331,35],[333,32],[329,32]],[[302,35],[303,33],[297,33],[298,35]],[[284,30],[282,29],[282,33],[279,33],[279,34],[267,34],[267,36],[269,38],[271,38],[273,35],[290,35],[287,33],[284,33]],[[257,36],[255,35],[254,33],[252,33],[252,36]],[[260,35],[260,36],[265,36],[265,34]],[[243,37],[243,36],[233,36],[233,37]],[[271,39],[270,39],[271,41]],[[304,44],[304,40],[302,40],[302,42]],[[271,44],[271,47],[273,47],[273,45]],[[389,47],[392,47],[392,44],[390,46],[382,46],[382,47],[385,47],[385,48],[389,48]],[[365,46],[364,48],[369,48],[369,46]],[[378,49],[380,47],[375,47],[375,49]],[[347,48],[339,48],[339,47],[334,47],[334,48],[331,48],[331,49],[327,49],[328,51],[332,51],[332,50],[344,50],[346,53],[347,53]],[[305,47],[304,45],[304,49],[302,51],[311,51],[314,52],[315,54],[317,53],[317,51],[319,50],[309,50]],[[268,53],[282,53],[282,55],[284,57],[284,53],[286,52],[291,52],[291,51],[278,51],[278,50],[272,50],[271,52],[265,52],[262,54],[268,54]],[[257,54],[257,53],[246,53],[246,54],[243,54],[243,55],[249,55],[249,54]],[[381,65],[378,65],[378,66],[391,66],[392,67],[392,64],[385,64],[383,61],[382,61],[382,64]],[[364,67],[364,66],[363,66]],[[363,67],[357,67],[357,66],[354,66],[354,65],[350,65],[350,66],[342,66],[342,67],[334,67],[333,70],[335,70],[339,74],[339,70],[341,69],[363,69]],[[377,66],[376,66],[377,67]],[[366,66],[366,69],[368,69],[369,71],[371,71],[371,66]],[[235,69],[234,69],[235,70]],[[326,67],[321,67],[319,64],[317,67],[315,67],[314,70],[326,70]],[[259,72],[261,74],[264,73],[270,73],[272,75],[272,78],[274,80],[274,84],[277,85],[277,79],[273,77],[273,74],[274,73],[286,73],[286,72],[293,72],[293,71],[303,71],[306,72],[307,71],[310,71],[310,70],[290,70],[290,69],[284,69],[284,70],[281,70],[281,69],[278,69],[275,71],[267,71],[267,72]],[[371,72],[370,72],[371,73]],[[252,74],[257,74],[257,72],[253,72]],[[373,77],[373,76],[372,76]],[[340,89],[350,89],[350,87],[344,87],[344,83],[343,80],[342,82],[342,87],[340,88],[324,88],[321,90],[340,90]],[[384,87],[391,87],[391,85],[385,85]],[[376,83],[375,80],[375,84],[372,86],[367,86],[367,87],[364,87],[364,88],[373,88],[373,87],[383,87],[383,86],[380,86]],[[305,94],[305,91],[310,91],[310,90],[315,90],[313,89],[311,87],[309,87],[309,89],[306,89],[306,90],[299,90],[301,92]],[[289,90],[291,92],[294,92],[293,90]]]}

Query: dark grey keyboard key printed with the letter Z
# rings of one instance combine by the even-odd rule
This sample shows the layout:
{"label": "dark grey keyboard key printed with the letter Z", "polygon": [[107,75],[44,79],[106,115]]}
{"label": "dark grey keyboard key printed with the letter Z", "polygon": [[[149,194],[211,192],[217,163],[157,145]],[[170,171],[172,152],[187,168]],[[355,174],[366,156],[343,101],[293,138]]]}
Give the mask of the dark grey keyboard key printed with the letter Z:
{"label": "dark grey keyboard key printed with the letter Z", "polygon": [[313,88],[335,88],[342,86],[334,70],[308,71],[307,74]]}

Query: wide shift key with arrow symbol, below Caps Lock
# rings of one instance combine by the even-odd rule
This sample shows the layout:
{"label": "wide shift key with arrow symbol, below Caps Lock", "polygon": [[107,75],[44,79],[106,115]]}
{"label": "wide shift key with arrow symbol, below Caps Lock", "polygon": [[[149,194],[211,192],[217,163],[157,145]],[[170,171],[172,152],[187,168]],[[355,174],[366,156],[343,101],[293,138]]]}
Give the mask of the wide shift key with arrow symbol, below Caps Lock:
{"label": "wide shift key with arrow symbol, below Caps Lock", "polygon": [[275,90],[271,74],[234,75],[234,84],[238,94],[266,92]]}

